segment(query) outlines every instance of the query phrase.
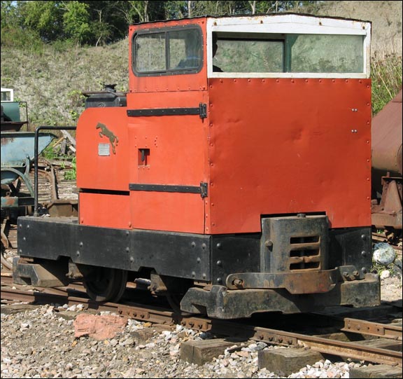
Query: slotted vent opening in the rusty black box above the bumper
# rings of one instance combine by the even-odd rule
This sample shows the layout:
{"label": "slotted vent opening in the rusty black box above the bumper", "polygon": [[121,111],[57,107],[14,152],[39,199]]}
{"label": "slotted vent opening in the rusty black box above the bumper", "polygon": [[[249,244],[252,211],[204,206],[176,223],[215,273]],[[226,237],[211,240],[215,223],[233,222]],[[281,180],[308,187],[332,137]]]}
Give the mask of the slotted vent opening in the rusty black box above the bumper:
{"label": "slotted vent opening in the rusty black box above the bumper", "polygon": [[320,236],[290,237],[290,270],[320,270]]}

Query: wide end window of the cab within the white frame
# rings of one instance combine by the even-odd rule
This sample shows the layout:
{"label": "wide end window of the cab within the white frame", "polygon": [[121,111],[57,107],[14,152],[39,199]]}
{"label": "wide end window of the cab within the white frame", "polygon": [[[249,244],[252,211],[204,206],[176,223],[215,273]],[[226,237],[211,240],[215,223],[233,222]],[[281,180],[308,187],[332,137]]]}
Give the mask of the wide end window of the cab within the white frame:
{"label": "wide end window of the cab within the white frame", "polygon": [[364,72],[364,36],[218,32],[213,65],[230,73]]}

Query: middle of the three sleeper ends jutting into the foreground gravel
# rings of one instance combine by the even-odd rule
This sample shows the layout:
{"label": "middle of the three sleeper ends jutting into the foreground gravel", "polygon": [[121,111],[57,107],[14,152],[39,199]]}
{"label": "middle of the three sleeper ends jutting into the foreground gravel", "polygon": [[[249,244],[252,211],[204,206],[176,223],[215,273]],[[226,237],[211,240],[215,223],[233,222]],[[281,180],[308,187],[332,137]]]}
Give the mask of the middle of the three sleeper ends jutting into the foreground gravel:
{"label": "middle of the three sleeper ends jutting into the foreground gravel", "polygon": [[285,348],[274,350],[260,350],[257,355],[259,368],[267,370],[277,375],[288,376],[299,371],[307,364],[315,364],[323,359],[320,352],[303,348]]}

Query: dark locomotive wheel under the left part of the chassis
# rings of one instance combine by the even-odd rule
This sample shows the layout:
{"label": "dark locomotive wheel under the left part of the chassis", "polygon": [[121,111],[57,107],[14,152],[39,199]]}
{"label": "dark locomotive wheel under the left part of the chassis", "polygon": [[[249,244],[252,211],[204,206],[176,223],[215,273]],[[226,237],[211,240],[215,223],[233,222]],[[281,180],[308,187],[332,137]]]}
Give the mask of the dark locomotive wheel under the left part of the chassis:
{"label": "dark locomotive wheel under the left part of the chassis", "polygon": [[87,295],[94,301],[117,303],[125,292],[127,271],[116,268],[94,268],[90,277],[84,280]]}

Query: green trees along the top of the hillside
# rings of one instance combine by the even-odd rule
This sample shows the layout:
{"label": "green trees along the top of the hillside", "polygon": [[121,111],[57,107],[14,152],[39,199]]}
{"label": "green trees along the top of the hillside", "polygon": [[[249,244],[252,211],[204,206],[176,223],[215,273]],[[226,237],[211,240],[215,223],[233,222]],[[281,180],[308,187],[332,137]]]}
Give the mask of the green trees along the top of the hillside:
{"label": "green trees along the top of the hillside", "polygon": [[[201,15],[298,11],[321,1],[1,1],[1,46],[32,40],[106,44],[127,36],[130,24]],[[24,37],[23,37],[24,36]]]}

